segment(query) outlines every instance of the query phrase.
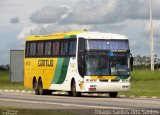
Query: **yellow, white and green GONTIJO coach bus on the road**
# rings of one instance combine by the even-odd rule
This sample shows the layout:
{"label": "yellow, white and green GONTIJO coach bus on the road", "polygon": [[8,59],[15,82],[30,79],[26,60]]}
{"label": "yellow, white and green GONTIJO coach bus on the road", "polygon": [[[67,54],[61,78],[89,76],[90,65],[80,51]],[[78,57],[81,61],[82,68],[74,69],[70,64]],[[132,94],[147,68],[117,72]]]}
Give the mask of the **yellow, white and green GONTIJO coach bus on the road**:
{"label": "yellow, white and green GONTIJO coach bus on the road", "polygon": [[127,36],[73,31],[29,36],[25,43],[24,86],[36,95],[66,91],[109,93],[130,90],[131,60]]}

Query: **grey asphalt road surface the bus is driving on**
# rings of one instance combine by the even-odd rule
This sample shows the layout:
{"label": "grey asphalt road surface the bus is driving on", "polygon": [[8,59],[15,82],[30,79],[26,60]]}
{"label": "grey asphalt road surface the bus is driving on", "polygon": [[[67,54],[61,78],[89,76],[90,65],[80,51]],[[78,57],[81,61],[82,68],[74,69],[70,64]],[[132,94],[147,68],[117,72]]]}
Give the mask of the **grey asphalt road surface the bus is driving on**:
{"label": "grey asphalt road surface the bus is driving on", "polygon": [[25,109],[160,109],[160,99],[107,96],[41,96],[0,92],[0,106]]}

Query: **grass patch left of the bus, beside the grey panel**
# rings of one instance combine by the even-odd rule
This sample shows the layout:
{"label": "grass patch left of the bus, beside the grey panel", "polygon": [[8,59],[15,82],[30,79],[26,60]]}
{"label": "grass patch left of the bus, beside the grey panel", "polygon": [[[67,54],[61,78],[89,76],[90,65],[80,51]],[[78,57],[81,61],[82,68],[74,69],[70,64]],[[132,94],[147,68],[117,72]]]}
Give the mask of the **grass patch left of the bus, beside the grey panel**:
{"label": "grass patch left of the bus, beside the grey panel", "polygon": [[0,71],[0,89],[27,90],[23,83],[10,82],[8,71]]}

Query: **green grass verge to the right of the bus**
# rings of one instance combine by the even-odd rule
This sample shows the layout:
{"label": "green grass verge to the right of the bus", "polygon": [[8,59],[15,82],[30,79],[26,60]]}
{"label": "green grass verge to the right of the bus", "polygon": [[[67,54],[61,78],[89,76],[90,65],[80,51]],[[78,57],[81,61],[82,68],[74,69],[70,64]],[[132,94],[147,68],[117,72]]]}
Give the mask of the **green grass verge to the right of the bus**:
{"label": "green grass verge to the right of the bus", "polygon": [[131,90],[121,94],[160,97],[160,70],[134,70],[131,74]]}

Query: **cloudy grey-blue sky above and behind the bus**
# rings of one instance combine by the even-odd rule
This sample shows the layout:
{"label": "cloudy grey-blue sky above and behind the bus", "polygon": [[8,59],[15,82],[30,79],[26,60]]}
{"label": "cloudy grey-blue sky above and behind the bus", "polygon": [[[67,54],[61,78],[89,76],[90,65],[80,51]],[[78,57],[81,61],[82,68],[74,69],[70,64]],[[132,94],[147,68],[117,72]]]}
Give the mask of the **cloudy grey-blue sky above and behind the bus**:
{"label": "cloudy grey-blue sky above and behind the bus", "polygon": [[[155,54],[160,56],[160,0],[152,0]],[[29,35],[87,29],[123,34],[133,56],[150,55],[149,0],[0,0],[0,65]]]}

